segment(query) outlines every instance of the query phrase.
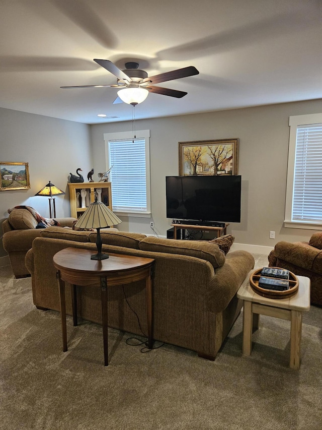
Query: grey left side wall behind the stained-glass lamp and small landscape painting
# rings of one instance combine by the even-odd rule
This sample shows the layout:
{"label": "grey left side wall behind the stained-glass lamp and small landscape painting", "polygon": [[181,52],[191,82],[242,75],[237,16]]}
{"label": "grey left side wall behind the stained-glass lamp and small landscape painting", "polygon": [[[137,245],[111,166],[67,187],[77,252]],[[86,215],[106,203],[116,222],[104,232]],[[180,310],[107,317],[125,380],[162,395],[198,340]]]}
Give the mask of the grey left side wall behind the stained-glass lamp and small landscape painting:
{"label": "grey left side wall behind the stained-glass lamp and small landscape painting", "polygon": [[[1,162],[29,163],[31,186],[0,192],[0,223],[8,217],[8,209],[17,205],[32,206],[49,217],[48,199],[34,196],[49,180],[67,193],[55,199],[57,217],[70,216],[67,177],[81,167],[87,180],[92,168],[90,126],[0,108],[0,148]],[[4,255],[1,241],[0,257]]]}

